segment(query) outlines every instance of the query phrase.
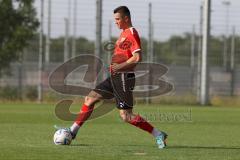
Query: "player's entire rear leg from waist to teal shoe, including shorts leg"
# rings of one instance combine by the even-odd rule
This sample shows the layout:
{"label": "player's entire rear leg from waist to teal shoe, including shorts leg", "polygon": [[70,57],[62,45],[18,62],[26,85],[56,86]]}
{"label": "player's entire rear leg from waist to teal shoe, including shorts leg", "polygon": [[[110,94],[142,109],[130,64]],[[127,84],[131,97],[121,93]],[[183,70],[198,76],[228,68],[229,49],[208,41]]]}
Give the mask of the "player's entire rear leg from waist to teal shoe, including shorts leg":
{"label": "player's entire rear leg from waist to teal shoe, including shorts leg", "polygon": [[132,91],[135,86],[135,75],[132,73],[116,75],[113,77],[112,83],[117,108],[120,110],[120,116],[123,121],[152,134],[156,138],[158,147],[164,148],[166,146],[165,140],[167,134],[160,132],[140,115],[133,113],[134,102]]}

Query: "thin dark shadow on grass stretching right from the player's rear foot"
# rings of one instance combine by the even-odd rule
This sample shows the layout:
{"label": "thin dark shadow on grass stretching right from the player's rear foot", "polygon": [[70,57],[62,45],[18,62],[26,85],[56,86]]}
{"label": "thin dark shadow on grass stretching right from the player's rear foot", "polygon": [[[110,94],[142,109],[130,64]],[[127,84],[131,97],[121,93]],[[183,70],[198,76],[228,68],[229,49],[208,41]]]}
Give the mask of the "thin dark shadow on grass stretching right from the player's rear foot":
{"label": "thin dark shadow on grass stretching right from the player's rear foot", "polygon": [[240,147],[228,147],[228,146],[167,146],[168,149],[239,149]]}

